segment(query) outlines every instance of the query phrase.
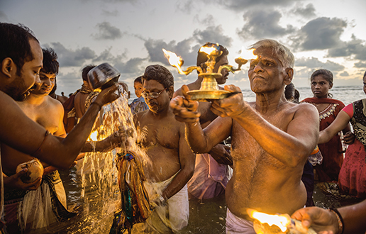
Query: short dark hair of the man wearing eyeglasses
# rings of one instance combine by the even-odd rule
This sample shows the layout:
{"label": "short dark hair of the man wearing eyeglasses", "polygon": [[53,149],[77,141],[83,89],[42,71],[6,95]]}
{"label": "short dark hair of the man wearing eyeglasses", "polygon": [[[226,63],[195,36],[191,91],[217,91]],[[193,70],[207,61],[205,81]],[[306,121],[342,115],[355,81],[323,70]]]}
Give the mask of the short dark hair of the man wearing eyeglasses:
{"label": "short dark hair of the man wearing eyeglasses", "polygon": [[161,65],[150,65],[145,68],[145,73],[143,74],[143,81],[145,80],[156,80],[165,89],[173,86],[174,87],[174,77],[172,73],[165,67]]}

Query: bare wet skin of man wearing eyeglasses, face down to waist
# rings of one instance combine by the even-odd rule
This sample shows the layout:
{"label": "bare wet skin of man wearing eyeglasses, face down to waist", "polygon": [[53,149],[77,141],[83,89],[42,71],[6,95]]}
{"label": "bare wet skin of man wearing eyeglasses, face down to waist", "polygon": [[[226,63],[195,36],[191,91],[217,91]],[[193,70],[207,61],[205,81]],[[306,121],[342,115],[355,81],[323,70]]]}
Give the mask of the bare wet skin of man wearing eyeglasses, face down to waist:
{"label": "bare wet skin of man wearing eyeglasses, face down to waist", "polygon": [[155,80],[145,80],[143,83],[144,93],[161,92],[157,98],[146,97],[145,101],[150,109],[135,115],[135,126],[138,130],[147,130],[142,144],[147,150],[151,165],[145,167],[145,174],[147,178],[161,182],[178,172],[162,192],[162,196],[169,199],[192,177],[194,153],[184,137],[184,124],[175,120],[170,108],[174,88],[165,89]]}

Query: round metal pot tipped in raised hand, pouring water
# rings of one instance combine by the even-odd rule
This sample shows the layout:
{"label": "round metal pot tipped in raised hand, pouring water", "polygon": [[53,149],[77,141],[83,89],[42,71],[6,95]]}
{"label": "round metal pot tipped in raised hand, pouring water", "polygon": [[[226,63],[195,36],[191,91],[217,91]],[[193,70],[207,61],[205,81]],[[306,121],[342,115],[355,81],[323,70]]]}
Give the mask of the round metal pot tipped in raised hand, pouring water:
{"label": "round metal pot tipped in raised hand, pouring water", "polygon": [[94,91],[101,91],[116,84],[121,73],[108,63],[102,63],[88,72],[89,84]]}

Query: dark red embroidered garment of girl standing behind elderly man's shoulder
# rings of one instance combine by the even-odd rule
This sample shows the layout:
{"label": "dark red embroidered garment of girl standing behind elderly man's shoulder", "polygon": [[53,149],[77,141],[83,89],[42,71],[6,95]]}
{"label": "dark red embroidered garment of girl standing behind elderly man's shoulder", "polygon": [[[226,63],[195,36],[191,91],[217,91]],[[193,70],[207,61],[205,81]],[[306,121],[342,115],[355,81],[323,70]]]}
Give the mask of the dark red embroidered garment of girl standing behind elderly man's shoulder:
{"label": "dark red embroidered garment of girl standing behind elderly man's shoulder", "polygon": [[[310,104],[329,104],[328,107],[319,113],[319,130],[324,130],[336,119],[338,113],[345,107],[342,101],[336,99],[307,98],[301,102]],[[343,149],[339,135],[335,135],[328,143],[318,145],[323,163],[316,165],[316,173],[319,182],[338,181],[340,167],[343,163]]]}

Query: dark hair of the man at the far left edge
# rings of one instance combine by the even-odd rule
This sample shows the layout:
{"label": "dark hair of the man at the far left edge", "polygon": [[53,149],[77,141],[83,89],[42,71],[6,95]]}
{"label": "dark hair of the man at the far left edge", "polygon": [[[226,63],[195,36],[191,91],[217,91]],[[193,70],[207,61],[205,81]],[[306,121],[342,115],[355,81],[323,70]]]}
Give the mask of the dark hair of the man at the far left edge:
{"label": "dark hair of the man at the far left edge", "polygon": [[0,23],[0,35],[0,61],[10,57],[20,75],[24,62],[34,59],[29,40],[38,40],[29,28],[21,24]]}

